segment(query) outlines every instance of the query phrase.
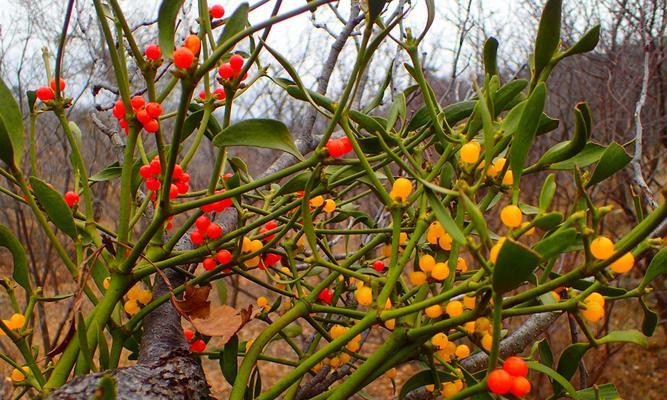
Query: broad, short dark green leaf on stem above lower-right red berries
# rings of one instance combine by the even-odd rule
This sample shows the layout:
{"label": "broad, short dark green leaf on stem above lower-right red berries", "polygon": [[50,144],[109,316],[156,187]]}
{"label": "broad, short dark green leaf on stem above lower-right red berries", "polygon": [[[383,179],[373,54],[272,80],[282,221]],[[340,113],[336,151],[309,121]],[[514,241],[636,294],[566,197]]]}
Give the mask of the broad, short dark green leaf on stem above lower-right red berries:
{"label": "broad, short dark green leaf on stem above lower-right red berries", "polygon": [[521,286],[539,262],[539,254],[519,242],[505,239],[493,267],[493,290],[501,294]]}

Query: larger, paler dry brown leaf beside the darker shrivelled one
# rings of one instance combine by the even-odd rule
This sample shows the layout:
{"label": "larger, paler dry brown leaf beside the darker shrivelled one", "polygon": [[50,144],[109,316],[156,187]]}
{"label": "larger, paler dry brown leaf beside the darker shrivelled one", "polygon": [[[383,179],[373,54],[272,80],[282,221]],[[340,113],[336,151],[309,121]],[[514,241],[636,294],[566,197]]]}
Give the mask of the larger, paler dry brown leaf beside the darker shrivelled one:
{"label": "larger, paler dry brown leaf beside the darker shrivelled one", "polygon": [[217,336],[222,339],[225,344],[236,335],[236,333],[243,328],[254,316],[252,304],[248,308],[236,310],[230,306],[221,305],[215,306],[211,309],[211,314],[206,319],[193,319],[197,332],[206,336]]}

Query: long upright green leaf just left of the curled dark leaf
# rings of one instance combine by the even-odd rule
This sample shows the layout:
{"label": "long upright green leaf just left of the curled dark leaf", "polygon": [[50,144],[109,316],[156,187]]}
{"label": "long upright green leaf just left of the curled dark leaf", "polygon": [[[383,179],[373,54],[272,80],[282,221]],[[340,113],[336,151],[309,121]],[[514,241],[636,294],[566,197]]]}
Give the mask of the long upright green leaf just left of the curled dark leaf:
{"label": "long upright green leaf just left of the curled dark leaf", "polygon": [[521,113],[519,124],[512,139],[509,159],[514,173],[514,187],[519,186],[523,166],[528,158],[528,151],[533,144],[537,125],[544,110],[546,87],[544,83],[537,85],[533,93],[526,100],[526,106]]}

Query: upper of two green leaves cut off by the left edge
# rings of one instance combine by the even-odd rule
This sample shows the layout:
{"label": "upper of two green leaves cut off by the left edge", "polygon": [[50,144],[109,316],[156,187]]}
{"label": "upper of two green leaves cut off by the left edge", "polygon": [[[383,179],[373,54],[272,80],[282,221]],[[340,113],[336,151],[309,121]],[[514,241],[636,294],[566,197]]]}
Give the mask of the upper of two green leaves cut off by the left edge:
{"label": "upper of two green leaves cut off by the left edge", "polygon": [[23,116],[11,90],[0,79],[0,160],[18,165],[23,147]]}

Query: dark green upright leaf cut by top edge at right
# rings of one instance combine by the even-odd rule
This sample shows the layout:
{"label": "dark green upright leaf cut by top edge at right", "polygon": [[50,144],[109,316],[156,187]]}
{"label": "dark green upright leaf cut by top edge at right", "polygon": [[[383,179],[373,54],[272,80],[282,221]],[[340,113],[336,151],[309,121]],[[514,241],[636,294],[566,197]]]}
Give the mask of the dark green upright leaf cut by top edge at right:
{"label": "dark green upright leaf cut by top edge at right", "polygon": [[535,40],[535,77],[551,62],[560,42],[562,0],[548,0],[544,5]]}

